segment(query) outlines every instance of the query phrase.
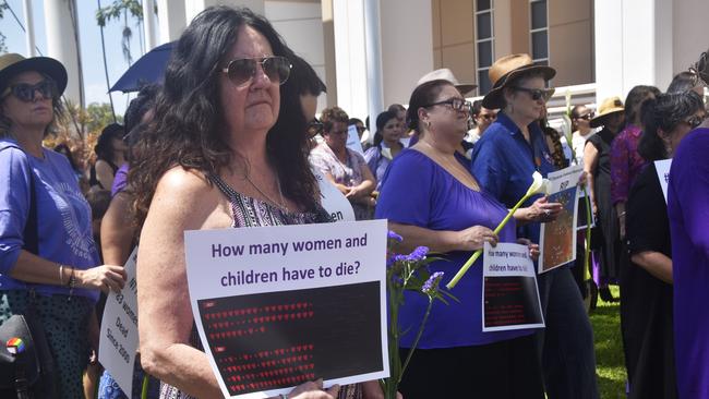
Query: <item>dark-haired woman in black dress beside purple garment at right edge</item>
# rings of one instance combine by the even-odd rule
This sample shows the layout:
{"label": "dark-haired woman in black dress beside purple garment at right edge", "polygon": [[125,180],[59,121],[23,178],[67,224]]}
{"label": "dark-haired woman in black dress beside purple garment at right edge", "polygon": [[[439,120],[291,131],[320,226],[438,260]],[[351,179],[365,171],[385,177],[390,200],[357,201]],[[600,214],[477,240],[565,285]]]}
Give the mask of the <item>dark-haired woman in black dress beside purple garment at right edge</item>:
{"label": "dark-haired woman in black dress beside purple garment at right edge", "polygon": [[701,97],[693,90],[661,94],[642,106],[644,132],[638,152],[649,164],[638,173],[628,195],[630,264],[621,270],[628,398],[677,397],[672,243],[666,201],[654,161],[672,158],[682,140],[705,117]]}

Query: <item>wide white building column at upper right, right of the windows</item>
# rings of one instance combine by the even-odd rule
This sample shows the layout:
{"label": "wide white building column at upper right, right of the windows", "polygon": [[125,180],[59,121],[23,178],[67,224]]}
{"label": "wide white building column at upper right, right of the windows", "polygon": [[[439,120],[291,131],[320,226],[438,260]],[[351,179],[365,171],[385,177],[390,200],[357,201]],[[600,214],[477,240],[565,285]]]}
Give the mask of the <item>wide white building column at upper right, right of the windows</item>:
{"label": "wide white building column at upper right, right of the windows", "polygon": [[672,1],[596,0],[596,99],[672,81]]}

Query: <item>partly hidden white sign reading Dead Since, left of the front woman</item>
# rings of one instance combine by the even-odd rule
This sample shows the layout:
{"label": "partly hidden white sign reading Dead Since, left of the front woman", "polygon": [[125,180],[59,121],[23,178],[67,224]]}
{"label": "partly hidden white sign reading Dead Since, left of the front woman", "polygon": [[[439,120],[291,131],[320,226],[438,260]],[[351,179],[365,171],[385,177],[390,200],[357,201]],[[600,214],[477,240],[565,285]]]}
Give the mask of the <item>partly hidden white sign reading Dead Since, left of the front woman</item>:
{"label": "partly hidden white sign reading Dead Since, left of the front woman", "polygon": [[133,389],[133,364],[137,351],[136,258],[137,247],[123,266],[125,286],[120,292],[108,294],[98,342],[98,361],[128,396]]}

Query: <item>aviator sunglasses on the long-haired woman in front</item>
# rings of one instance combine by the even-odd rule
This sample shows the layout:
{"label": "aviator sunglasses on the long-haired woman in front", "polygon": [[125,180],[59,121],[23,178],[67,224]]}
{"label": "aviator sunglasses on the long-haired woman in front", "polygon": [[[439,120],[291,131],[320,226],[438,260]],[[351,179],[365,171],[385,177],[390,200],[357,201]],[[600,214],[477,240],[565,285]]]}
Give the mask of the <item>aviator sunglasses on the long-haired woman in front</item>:
{"label": "aviator sunglasses on the long-haired woman in front", "polygon": [[226,73],[235,85],[244,86],[256,76],[259,72],[256,64],[261,64],[261,69],[271,82],[279,85],[286,83],[292,68],[285,57],[240,58],[230,61],[221,72]]}

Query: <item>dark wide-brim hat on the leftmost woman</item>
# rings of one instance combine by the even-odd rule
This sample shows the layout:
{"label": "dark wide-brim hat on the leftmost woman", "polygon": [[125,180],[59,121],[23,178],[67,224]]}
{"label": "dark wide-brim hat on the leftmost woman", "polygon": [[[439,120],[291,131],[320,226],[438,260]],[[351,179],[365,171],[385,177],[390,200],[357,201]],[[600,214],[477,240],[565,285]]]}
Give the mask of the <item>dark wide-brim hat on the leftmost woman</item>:
{"label": "dark wide-brim hat on the leftmost woman", "polygon": [[19,73],[36,71],[51,77],[57,84],[59,95],[67,88],[67,69],[61,62],[49,57],[24,58],[10,52],[0,56],[0,93],[4,92],[10,80]]}

